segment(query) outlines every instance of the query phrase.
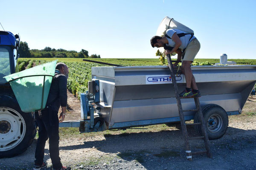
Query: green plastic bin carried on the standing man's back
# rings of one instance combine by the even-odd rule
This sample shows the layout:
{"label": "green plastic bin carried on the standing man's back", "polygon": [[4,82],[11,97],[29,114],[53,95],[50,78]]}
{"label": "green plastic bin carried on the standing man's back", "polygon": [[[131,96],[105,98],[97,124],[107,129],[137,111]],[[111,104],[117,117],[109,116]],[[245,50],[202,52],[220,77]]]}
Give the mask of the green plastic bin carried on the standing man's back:
{"label": "green plastic bin carried on the standing man's back", "polygon": [[6,77],[23,112],[45,108],[57,60]]}

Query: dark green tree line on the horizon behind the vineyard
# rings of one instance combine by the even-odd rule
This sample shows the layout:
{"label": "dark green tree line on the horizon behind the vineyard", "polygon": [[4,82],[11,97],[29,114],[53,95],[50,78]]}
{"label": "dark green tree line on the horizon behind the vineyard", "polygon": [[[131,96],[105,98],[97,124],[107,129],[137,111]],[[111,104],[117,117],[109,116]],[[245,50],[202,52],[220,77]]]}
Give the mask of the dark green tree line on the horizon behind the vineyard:
{"label": "dark green tree line on the horizon behind the vineyard", "polygon": [[20,58],[100,58],[100,55],[92,54],[88,55],[88,51],[81,49],[80,52],[75,50],[64,50],[62,48],[55,49],[50,47],[45,47],[42,50],[29,49],[28,43],[20,42],[20,47],[18,49],[18,54]]}

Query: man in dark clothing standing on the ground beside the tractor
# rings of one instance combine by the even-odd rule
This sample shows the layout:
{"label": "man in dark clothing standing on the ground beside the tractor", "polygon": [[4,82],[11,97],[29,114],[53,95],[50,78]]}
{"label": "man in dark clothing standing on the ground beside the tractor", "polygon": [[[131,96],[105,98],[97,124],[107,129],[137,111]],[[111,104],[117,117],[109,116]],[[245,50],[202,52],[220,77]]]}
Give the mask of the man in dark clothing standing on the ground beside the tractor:
{"label": "man in dark clothing standing on the ground beside the tractor", "polygon": [[[57,63],[55,76],[47,99],[46,108],[39,112],[35,112],[35,119],[38,124],[38,141],[35,150],[35,165],[33,170],[40,170],[47,167],[44,162],[45,142],[49,137],[49,153],[52,160],[53,170],[71,170],[70,167],[63,167],[59,157],[59,122],[63,122],[66,115],[67,107],[67,77],[68,68],[64,63]],[[61,114],[58,118],[58,110],[61,106]],[[60,119],[60,120],[59,120]]]}

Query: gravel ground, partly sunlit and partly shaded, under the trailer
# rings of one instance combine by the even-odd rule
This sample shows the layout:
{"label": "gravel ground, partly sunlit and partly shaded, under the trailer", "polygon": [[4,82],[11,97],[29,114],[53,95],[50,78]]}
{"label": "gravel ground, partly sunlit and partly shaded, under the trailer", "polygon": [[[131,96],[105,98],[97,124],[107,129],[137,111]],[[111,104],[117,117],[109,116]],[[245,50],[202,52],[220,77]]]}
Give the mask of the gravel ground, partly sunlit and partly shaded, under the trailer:
{"label": "gravel ground, partly sunlit and partly shaded, under the trailer", "polygon": [[[256,101],[247,101],[244,110],[256,112]],[[244,112],[243,110],[243,112]],[[255,170],[256,116],[229,116],[226,134],[210,141],[212,158],[206,155],[186,160],[181,130],[170,127],[156,132],[67,137],[60,140],[60,157],[65,166],[81,170]],[[193,128],[188,128],[195,134]],[[19,156],[0,159],[0,170],[32,169],[36,139]],[[191,142],[192,151],[204,150],[201,141]],[[49,145],[45,149],[51,169]]]}

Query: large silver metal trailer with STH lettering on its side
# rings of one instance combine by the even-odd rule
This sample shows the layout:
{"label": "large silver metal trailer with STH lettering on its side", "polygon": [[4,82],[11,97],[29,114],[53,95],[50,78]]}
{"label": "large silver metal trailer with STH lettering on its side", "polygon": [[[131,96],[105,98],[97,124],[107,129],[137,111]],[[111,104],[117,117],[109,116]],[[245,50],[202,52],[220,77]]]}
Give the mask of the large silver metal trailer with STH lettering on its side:
{"label": "large silver metal trailer with STH lettering on its side", "polygon": [[[224,135],[228,115],[241,114],[256,83],[256,65],[192,66],[201,91],[200,103],[209,139]],[[176,74],[185,88],[183,74]],[[81,121],[60,127],[79,127],[81,133],[179,122],[175,91],[167,66],[92,67],[89,91],[81,94]],[[181,99],[184,110],[195,109],[194,99]],[[185,120],[195,112],[184,113]],[[196,120],[194,120],[195,122]],[[200,128],[195,128],[198,133]]]}

